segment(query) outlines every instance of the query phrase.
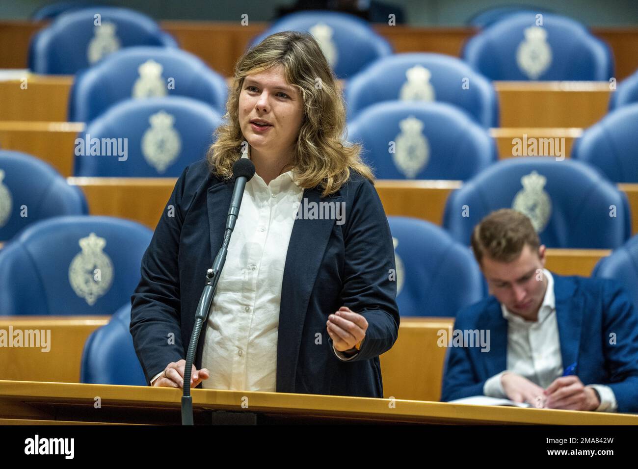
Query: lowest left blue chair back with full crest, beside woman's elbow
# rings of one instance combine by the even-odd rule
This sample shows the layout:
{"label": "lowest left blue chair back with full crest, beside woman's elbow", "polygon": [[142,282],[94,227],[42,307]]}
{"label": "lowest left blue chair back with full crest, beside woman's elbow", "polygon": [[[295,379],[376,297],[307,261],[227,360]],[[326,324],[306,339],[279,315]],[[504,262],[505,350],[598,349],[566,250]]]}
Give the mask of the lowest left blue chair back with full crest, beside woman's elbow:
{"label": "lowest left blue chair back with full crest, beside woman's elbow", "polygon": [[106,216],[34,223],[0,251],[0,315],[111,315],[135,291],[151,236]]}

